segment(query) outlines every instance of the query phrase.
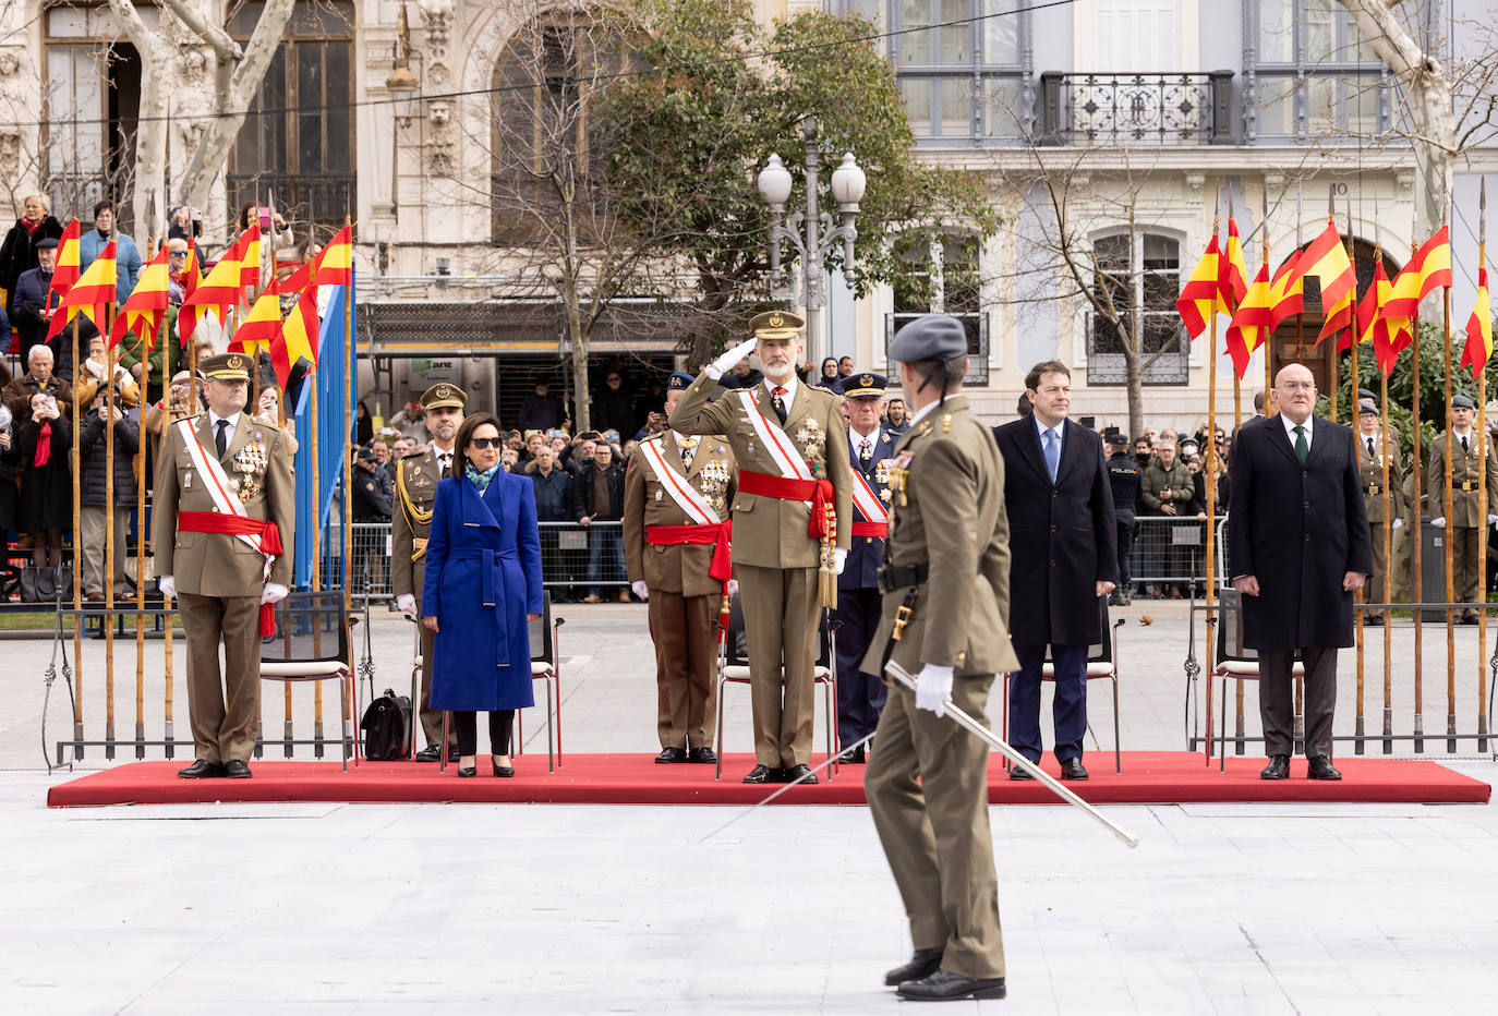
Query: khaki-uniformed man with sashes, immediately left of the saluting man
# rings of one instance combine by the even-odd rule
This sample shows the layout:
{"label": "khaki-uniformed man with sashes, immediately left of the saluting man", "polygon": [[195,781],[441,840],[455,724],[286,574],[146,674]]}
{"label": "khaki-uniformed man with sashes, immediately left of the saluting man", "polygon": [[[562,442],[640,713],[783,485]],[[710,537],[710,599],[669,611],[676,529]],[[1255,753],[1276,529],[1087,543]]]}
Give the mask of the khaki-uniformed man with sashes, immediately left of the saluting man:
{"label": "khaki-uniformed man with sashes, immediately left of the saluting man", "polygon": [[[670,414],[692,375],[667,381]],[[658,763],[715,763],[718,634],[731,581],[734,453],[718,435],[670,430],[640,442],[625,474],[625,565],[649,604],[656,649]]]}

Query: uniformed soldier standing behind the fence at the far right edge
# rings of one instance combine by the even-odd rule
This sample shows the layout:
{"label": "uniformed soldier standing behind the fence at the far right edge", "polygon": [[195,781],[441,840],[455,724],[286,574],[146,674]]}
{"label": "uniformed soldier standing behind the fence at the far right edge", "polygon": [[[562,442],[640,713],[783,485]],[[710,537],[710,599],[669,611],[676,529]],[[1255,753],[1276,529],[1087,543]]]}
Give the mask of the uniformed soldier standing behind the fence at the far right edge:
{"label": "uniformed soldier standing behind the fence at the far right edge", "polygon": [[[1477,515],[1477,430],[1476,406],[1467,396],[1452,396],[1452,432],[1431,445],[1431,472],[1425,480],[1431,524],[1446,529],[1452,541],[1452,587],[1456,602],[1477,602],[1477,541],[1483,530],[1498,523],[1498,453],[1488,444],[1488,518]],[[1452,469],[1452,504],[1446,504],[1446,469]],[[1477,623],[1477,611],[1462,613],[1464,625]]]}

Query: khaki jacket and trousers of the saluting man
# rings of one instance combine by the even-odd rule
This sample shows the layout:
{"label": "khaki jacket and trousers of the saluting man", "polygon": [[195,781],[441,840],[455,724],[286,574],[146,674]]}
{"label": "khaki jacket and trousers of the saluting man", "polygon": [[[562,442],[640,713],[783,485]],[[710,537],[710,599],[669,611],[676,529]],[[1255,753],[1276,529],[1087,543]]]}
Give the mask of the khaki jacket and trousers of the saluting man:
{"label": "khaki jacket and trousers of the saluting man", "polygon": [[[827,388],[797,382],[780,427],[768,382],[752,390],[758,408],[746,409],[739,391],[724,393],[703,373],[671,414],[671,427],[685,435],[724,435],[740,471],[780,475],[774,459],[749,420],[759,412],[768,427],[783,430],[795,454],[818,480],[833,484],[837,545],[848,548],[852,532],[852,474],[848,468],[848,427],[840,400]],[[707,402],[716,396],[716,402]],[[777,435],[779,436],[779,435]],[[785,501],[737,492],[734,512],[734,577],[745,611],[752,674],[755,760],[770,769],[803,766],[812,757],[812,695],[816,665],[818,563],[821,542],[809,535],[810,509]],[[783,661],[783,697],[782,697]]]}

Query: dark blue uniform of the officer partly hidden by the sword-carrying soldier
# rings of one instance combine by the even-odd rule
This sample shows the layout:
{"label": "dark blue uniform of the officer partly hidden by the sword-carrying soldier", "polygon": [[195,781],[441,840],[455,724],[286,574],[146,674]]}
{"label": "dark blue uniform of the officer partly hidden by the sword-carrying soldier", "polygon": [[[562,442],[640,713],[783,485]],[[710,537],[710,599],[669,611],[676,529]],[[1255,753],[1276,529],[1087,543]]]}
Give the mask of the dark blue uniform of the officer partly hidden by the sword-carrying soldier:
{"label": "dark blue uniform of the officer partly hidden by the sword-carrying soldier", "polygon": [[[869,459],[864,462],[861,448],[843,430],[848,441],[848,462],[852,471],[879,499],[885,514],[890,511],[888,466],[894,457],[894,436],[875,430],[869,436]],[[854,502],[854,524],[870,523]],[[837,575],[837,742],[843,746],[857,743],[873,733],[884,710],[887,689],[884,679],[860,670],[873,632],[879,628],[879,565],[884,563],[884,536],[872,532],[852,533],[848,560]]]}

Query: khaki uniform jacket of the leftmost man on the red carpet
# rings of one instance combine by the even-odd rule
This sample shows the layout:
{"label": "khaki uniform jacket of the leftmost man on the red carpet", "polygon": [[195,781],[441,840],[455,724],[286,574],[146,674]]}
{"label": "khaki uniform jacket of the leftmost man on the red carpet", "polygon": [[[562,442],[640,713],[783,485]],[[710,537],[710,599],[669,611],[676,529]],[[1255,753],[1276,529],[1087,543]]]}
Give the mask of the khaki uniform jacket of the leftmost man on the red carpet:
{"label": "khaki uniform jacket of the leftmost man on the red carpet", "polygon": [[[208,414],[198,415],[198,444],[214,457]],[[274,521],[286,553],[276,559],[270,581],[291,586],[297,489],[285,435],[274,426],[240,412],[234,438],[219,459],[229,486],[252,518]],[[198,475],[178,424],[166,429],[156,465],[153,547],[156,574],[172,575],[180,593],[199,596],[259,596],[265,557],[238,536],[177,532],[178,511],[217,511],[207,478]]]}

